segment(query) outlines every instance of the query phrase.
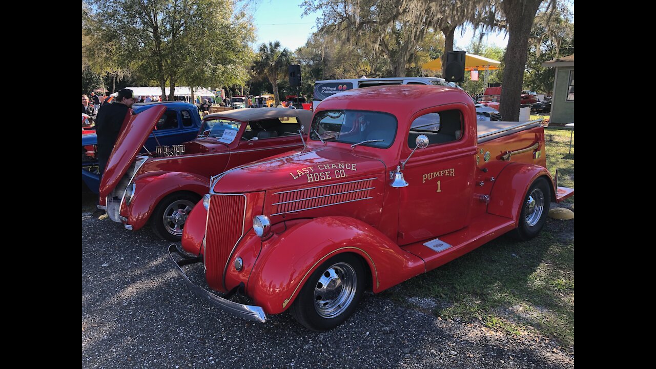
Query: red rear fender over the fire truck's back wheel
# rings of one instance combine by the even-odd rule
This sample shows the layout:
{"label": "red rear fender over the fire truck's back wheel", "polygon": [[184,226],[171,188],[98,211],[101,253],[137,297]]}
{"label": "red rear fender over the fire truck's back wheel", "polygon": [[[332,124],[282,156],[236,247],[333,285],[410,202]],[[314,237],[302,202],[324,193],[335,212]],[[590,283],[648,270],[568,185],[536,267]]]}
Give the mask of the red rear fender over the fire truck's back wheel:
{"label": "red rear fender over the fire truck's back wheel", "polygon": [[517,225],[527,190],[533,181],[543,176],[549,183],[551,198],[555,199],[554,181],[545,167],[525,163],[507,165],[499,173],[499,177],[492,187],[487,212],[513,219]]}

